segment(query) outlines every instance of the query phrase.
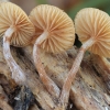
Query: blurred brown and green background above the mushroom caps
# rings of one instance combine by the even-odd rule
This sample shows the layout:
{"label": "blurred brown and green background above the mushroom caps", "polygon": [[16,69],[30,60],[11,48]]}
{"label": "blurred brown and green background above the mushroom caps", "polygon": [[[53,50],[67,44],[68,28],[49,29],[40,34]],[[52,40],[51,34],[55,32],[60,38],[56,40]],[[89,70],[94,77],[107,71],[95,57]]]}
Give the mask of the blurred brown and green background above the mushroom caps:
{"label": "blurred brown and green background above the mushroom caps", "polygon": [[65,10],[74,19],[82,8],[99,8],[110,14],[110,0],[10,0],[20,6],[28,14],[37,4],[53,4]]}

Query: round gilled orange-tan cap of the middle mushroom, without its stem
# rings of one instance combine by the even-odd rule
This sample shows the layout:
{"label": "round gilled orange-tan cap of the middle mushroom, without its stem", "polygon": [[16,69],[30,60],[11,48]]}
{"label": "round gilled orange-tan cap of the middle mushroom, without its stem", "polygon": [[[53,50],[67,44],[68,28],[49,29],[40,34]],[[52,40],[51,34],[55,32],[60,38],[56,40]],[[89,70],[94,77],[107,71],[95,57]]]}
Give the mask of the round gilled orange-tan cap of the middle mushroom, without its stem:
{"label": "round gilled orange-tan cap of the middle mushroom, without its stem", "polygon": [[41,4],[34,8],[29,16],[35,25],[37,38],[44,31],[47,38],[41,43],[41,48],[46,52],[61,53],[73,46],[75,41],[75,28],[73,20],[61,9]]}

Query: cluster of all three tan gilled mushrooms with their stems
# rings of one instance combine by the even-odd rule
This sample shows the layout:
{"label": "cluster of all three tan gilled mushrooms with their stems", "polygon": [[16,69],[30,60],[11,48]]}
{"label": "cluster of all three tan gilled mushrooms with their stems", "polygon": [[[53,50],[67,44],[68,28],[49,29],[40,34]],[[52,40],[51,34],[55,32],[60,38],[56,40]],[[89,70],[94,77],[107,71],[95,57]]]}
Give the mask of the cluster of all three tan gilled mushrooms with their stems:
{"label": "cluster of all three tan gilled mushrooms with their stems", "polygon": [[[47,53],[63,53],[74,45],[75,31],[82,45],[62,90],[47,76],[40,59],[40,50]],[[0,34],[3,35],[3,55],[18,85],[26,85],[26,75],[13,59],[10,45],[24,47],[33,43],[33,59],[40,78],[47,91],[58,99],[52,110],[65,110],[68,103],[72,82],[80,66],[85,52],[110,57],[110,16],[98,9],[85,8],[73,20],[61,9],[41,4],[28,16],[11,2],[0,3]]]}

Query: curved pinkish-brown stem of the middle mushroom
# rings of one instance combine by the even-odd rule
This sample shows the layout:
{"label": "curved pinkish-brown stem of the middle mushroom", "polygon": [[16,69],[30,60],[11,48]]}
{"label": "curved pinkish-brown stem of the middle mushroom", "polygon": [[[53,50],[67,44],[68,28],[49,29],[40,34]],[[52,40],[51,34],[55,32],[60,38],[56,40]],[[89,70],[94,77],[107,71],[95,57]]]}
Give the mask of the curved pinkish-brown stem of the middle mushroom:
{"label": "curved pinkish-brown stem of the middle mushroom", "polygon": [[57,87],[57,85],[47,76],[43,65],[42,65],[42,62],[41,62],[41,58],[40,58],[40,48],[38,48],[38,45],[47,38],[47,32],[44,32],[42,35],[40,35],[36,41],[35,41],[35,44],[34,44],[34,48],[33,48],[33,58],[34,58],[34,64],[35,64],[35,67],[38,72],[38,75],[40,75],[40,78],[41,80],[43,81],[43,84],[45,85],[46,89],[48,90],[48,92],[58,98],[59,97],[59,88]]}

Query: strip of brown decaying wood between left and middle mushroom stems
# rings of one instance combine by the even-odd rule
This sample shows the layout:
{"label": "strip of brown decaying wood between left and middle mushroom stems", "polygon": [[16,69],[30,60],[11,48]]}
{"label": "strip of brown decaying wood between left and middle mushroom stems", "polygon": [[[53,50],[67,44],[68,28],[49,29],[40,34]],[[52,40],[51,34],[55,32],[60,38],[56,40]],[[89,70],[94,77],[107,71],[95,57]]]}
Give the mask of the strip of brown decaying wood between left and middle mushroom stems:
{"label": "strip of brown decaying wood between left and middle mushroom stems", "polygon": [[26,78],[28,78],[26,80],[28,80],[29,88],[32,90],[32,92],[35,96],[35,99],[42,106],[41,108],[44,108],[44,109],[46,108],[46,110],[51,110],[51,108],[54,108],[54,102],[50,94],[46,91],[42,82],[38,80],[38,77],[36,75],[36,70],[33,64],[26,57],[22,56],[23,53],[22,52],[20,53],[20,50],[21,48],[18,48],[19,53],[16,53],[15,50],[13,48],[12,54],[13,54],[13,57],[14,55],[16,56],[14,57],[15,61],[26,74]]}

